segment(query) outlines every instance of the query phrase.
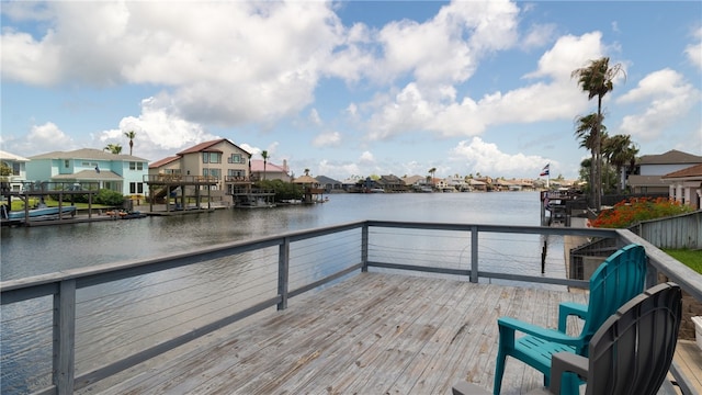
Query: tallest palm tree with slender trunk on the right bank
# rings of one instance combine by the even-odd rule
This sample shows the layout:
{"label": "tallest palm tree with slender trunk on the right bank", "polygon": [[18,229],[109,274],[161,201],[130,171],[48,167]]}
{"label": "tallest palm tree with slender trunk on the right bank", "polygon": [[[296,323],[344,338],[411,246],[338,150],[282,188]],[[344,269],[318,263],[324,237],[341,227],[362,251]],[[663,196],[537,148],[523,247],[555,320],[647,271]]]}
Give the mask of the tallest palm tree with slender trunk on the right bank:
{"label": "tallest palm tree with slender trunk on the right bank", "polygon": [[584,92],[588,92],[588,100],[592,100],[592,98],[597,98],[597,124],[593,132],[595,138],[595,181],[596,183],[592,185],[593,196],[595,196],[595,205],[599,211],[602,205],[602,170],[601,170],[601,158],[600,158],[600,147],[602,136],[600,135],[600,126],[602,122],[602,98],[612,89],[614,89],[614,84],[612,80],[620,72],[624,72],[622,65],[616,64],[610,67],[610,58],[602,57],[597,60],[590,60],[590,64],[587,67],[579,68],[574,70],[570,74],[570,77],[578,79],[578,84],[582,88]]}

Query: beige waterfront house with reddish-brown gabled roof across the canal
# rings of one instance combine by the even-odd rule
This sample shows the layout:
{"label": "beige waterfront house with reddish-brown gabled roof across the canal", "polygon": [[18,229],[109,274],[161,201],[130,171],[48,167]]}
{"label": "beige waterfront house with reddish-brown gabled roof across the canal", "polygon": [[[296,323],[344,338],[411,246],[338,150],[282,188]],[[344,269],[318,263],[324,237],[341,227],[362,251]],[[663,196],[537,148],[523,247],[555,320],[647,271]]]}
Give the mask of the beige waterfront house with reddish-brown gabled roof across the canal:
{"label": "beige waterfront house with reddish-brown gabled roof across the canal", "polygon": [[213,200],[223,200],[250,189],[250,160],[251,154],[226,138],[204,142],[151,163],[149,182],[157,185],[166,178],[178,177],[183,185],[207,188]]}

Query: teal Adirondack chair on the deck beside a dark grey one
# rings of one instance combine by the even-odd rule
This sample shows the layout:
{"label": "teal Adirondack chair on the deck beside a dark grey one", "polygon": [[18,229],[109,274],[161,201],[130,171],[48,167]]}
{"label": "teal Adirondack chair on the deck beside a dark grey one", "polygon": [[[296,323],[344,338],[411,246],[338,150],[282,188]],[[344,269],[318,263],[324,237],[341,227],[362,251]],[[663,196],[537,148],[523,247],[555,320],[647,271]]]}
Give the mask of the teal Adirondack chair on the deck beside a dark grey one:
{"label": "teal Adirondack chair on the deck beside a dark grey one", "polygon": [[[544,386],[551,382],[551,357],[556,352],[574,352],[587,357],[588,343],[600,326],[622,305],[644,291],[646,251],[639,245],[629,245],[612,253],[590,278],[588,305],[563,303],[558,312],[558,329],[542,328],[511,317],[500,317],[499,346],[495,365],[495,386],[498,395],[502,386],[507,357],[516,358],[544,374]],[[576,336],[566,334],[568,315],[577,315],[582,330]],[[525,336],[516,338],[516,332]],[[579,380],[564,377],[565,393],[578,393]]]}

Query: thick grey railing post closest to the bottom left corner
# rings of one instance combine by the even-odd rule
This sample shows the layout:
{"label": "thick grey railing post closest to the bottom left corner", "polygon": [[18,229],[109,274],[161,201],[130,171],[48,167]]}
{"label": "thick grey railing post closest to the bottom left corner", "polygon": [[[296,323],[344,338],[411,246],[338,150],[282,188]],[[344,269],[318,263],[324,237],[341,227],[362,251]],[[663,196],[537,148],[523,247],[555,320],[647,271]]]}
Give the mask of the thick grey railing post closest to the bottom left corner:
{"label": "thick grey railing post closest to the bottom left corner", "polygon": [[54,294],[53,382],[59,395],[73,393],[76,361],[76,280],[64,280]]}

